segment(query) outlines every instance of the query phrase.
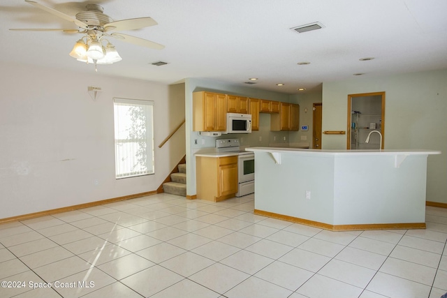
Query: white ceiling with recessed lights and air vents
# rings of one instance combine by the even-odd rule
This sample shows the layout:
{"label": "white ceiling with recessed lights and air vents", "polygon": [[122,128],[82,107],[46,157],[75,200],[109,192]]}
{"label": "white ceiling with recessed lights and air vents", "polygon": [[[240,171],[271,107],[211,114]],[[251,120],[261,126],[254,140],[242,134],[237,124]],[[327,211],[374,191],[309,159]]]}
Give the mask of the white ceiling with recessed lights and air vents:
{"label": "white ceiling with recessed lights and air vents", "polygon": [[[98,75],[171,84],[186,77],[297,94],[322,82],[447,68],[446,0],[35,0],[74,15],[99,3],[114,20],[152,17],[159,24],[123,33],[166,45],[151,50],[111,40],[123,60]],[[325,28],[290,28],[321,22]],[[68,56],[79,34],[9,28],[73,28],[25,3],[0,2],[0,59],[94,73]],[[375,57],[372,61],[359,61]],[[166,61],[166,66],[152,66]],[[311,64],[299,66],[300,61]],[[247,85],[249,77],[257,84]],[[284,83],[282,87],[277,83]]]}

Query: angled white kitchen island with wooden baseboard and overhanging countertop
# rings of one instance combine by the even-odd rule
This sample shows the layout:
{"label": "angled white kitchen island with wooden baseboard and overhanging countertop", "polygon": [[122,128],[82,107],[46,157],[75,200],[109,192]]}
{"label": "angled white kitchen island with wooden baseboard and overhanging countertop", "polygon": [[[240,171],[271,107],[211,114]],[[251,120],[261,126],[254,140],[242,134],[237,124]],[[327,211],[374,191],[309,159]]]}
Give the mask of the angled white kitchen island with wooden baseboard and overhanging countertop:
{"label": "angled white kitchen island with wooden baseboard and overhanging countertop", "polygon": [[431,150],[253,147],[255,214],[328,230],[425,228]]}

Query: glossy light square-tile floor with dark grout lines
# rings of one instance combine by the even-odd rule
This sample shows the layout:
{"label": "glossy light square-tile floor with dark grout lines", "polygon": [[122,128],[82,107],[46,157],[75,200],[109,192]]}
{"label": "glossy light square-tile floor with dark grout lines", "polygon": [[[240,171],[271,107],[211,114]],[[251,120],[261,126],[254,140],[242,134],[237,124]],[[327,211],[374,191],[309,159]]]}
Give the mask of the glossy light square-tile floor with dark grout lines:
{"label": "glossy light square-tile floor with dark grout lines", "polygon": [[439,298],[447,292],[447,209],[427,207],[426,230],[354,232],[257,216],[253,209],[254,195],[214,203],[159,194],[5,223],[0,297]]}

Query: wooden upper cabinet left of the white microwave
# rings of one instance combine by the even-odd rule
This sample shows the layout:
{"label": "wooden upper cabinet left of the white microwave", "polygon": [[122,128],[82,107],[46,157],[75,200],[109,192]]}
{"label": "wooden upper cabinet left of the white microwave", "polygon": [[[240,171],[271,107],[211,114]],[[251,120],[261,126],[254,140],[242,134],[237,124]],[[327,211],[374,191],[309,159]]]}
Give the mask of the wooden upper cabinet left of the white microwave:
{"label": "wooden upper cabinet left of the white microwave", "polygon": [[193,131],[226,131],[226,94],[193,92]]}

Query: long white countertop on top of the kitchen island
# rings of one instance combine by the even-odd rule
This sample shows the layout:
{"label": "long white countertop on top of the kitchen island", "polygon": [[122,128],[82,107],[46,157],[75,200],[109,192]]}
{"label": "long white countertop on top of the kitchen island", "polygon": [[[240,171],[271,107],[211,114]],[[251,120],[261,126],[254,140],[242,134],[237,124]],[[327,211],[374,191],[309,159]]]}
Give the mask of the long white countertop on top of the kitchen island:
{"label": "long white countertop on top of the kitchen island", "polygon": [[441,151],[427,149],[383,149],[383,150],[325,150],[325,149],[296,149],[296,148],[275,148],[275,147],[250,147],[246,151],[295,153],[312,155],[427,155],[441,154]]}

